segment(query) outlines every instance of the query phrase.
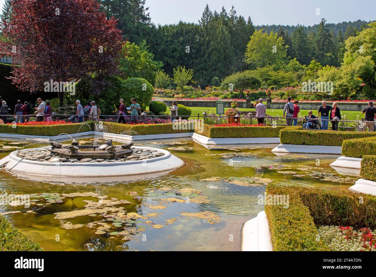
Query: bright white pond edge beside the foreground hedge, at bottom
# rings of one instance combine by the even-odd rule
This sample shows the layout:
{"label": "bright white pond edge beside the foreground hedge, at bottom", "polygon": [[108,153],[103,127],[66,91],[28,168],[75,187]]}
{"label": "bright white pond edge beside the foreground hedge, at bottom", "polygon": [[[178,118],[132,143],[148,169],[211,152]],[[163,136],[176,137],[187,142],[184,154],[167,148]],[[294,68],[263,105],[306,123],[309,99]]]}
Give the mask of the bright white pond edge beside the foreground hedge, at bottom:
{"label": "bright white pond edge beside the foreground hedge, at bottom", "polygon": [[241,228],[241,251],[273,251],[265,211],[245,222]]}

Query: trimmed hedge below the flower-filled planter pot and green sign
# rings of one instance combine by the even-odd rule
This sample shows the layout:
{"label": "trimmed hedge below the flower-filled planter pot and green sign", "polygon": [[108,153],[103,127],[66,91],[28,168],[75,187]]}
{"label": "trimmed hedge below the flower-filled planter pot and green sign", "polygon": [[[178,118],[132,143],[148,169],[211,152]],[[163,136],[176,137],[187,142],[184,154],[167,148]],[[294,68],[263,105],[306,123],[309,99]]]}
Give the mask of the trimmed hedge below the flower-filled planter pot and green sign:
{"label": "trimmed hedge below the flower-filled planter pot and green sign", "polygon": [[[279,131],[287,126],[229,126],[216,127],[204,124],[204,132],[196,133],[208,138],[278,138]],[[301,127],[298,127],[301,128]]]}

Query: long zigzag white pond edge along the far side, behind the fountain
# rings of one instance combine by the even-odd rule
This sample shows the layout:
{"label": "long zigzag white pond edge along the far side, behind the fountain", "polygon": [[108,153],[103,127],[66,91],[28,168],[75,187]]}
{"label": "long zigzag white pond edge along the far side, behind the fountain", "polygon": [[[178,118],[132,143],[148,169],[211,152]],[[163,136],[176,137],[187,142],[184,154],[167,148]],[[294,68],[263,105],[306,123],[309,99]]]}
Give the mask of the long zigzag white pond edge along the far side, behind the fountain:
{"label": "long zigzag white pond edge along the far side, behind the fountain", "polygon": [[113,133],[103,132],[83,132],[74,133],[69,135],[59,136],[26,136],[15,134],[0,134],[0,139],[46,139],[50,141],[65,141],[72,138],[87,138],[89,136],[96,136],[98,138],[114,139],[115,141],[142,141],[150,139],[174,139],[174,138],[193,138],[194,141],[203,145],[215,145],[215,144],[276,144],[279,143],[279,138],[208,138],[206,136],[194,133],[174,133],[174,134],[157,134],[157,135],[118,135]]}

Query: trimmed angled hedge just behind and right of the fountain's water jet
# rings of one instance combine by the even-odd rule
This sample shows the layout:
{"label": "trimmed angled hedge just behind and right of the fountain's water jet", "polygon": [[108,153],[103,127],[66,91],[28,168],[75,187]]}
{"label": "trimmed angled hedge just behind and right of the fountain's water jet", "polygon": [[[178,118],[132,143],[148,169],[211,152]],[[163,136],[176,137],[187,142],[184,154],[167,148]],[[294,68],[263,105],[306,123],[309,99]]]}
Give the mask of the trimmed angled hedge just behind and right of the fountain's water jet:
{"label": "trimmed angled hedge just behind and right of the fountain's water jet", "polygon": [[115,122],[103,122],[106,128],[105,132],[139,136],[139,135],[158,135],[158,134],[175,134],[175,133],[189,133],[193,130],[174,130],[174,123],[161,123],[161,124],[122,124]]}

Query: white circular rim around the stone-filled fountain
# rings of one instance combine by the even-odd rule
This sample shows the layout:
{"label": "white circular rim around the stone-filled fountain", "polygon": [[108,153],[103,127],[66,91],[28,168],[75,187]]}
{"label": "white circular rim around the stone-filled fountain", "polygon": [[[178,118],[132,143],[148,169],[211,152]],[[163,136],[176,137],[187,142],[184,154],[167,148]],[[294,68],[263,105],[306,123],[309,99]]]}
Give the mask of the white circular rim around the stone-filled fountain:
{"label": "white circular rim around the stone-filled fountain", "polygon": [[[49,147],[30,148],[42,149]],[[6,171],[15,174],[45,177],[104,177],[104,176],[133,176],[137,174],[156,173],[161,171],[171,171],[182,167],[185,162],[170,152],[160,148],[134,147],[158,150],[164,153],[163,156],[150,158],[143,161],[124,162],[40,162],[22,159],[17,156],[18,150],[11,152],[8,156],[0,160],[0,167],[5,164]],[[29,150],[29,149],[28,149]]]}

